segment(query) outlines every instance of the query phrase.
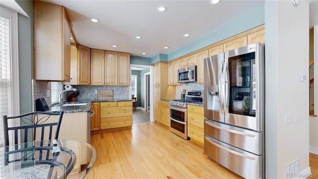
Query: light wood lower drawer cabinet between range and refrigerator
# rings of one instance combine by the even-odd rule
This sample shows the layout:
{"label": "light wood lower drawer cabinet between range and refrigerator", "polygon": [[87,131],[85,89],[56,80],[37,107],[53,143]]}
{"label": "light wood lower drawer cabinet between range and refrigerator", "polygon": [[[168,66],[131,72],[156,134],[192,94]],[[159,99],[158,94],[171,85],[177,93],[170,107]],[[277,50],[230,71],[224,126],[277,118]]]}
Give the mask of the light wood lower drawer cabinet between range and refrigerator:
{"label": "light wood lower drawer cabinet between range and refrigerator", "polygon": [[188,137],[190,140],[204,146],[204,115],[203,107],[188,105]]}

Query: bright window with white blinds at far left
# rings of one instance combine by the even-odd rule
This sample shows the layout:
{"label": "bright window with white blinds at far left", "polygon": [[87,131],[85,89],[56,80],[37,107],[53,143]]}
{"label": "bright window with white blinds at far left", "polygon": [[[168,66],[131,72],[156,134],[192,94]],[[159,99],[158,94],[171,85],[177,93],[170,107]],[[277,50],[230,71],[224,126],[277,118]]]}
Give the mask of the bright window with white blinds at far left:
{"label": "bright window with white blinds at far left", "polygon": [[[19,64],[17,12],[0,6],[0,146],[3,146],[3,115],[19,115]],[[19,123],[8,124],[8,126]]]}

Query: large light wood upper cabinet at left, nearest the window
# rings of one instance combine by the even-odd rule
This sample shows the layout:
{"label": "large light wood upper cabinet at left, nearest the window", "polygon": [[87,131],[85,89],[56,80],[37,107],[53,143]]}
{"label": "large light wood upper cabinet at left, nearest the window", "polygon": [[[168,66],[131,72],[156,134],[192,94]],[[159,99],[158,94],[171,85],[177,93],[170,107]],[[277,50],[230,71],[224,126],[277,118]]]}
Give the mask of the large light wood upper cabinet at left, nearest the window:
{"label": "large light wood upper cabinet at left, nearest the window", "polygon": [[35,0],[35,80],[70,82],[70,36],[71,29],[65,8],[61,5]]}

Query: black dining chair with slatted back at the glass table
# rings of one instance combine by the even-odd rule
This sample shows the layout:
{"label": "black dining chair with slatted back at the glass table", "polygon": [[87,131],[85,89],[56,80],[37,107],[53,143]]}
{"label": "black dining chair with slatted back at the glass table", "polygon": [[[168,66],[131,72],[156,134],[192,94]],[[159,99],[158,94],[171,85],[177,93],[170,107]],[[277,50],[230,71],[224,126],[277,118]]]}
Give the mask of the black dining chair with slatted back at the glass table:
{"label": "black dining chair with slatted back at the glass table", "polygon": [[[35,146],[35,141],[58,139],[62,118],[63,111],[35,111],[18,116],[4,115],[4,165],[21,162],[21,168],[23,169],[39,164],[47,164],[44,168],[49,171],[44,170],[44,174],[41,175],[49,174],[48,178],[51,178],[56,175],[57,167],[59,167],[63,171],[63,174],[65,174],[63,178],[66,178],[72,171],[76,162],[74,152],[67,149],[64,151],[63,149],[63,155],[69,156],[65,157],[65,160],[68,161],[61,162],[57,161],[57,158],[62,155],[62,152],[60,149],[56,150],[54,142],[49,142],[46,146],[43,145],[43,142],[40,142],[40,145]],[[13,123],[12,120],[19,120],[20,125],[9,127],[8,124]],[[19,136],[21,136],[21,140],[19,140]],[[9,138],[13,139],[13,141],[9,140]],[[26,147],[26,145],[30,144],[28,142],[33,142],[31,150],[30,147]],[[24,143],[25,146],[19,147],[19,143],[22,143],[22,145]],[[14,146],[14,149],[9,151],[9,146],[12,145]],[[43,167],[37,170],[37,172],[43,172]]]}

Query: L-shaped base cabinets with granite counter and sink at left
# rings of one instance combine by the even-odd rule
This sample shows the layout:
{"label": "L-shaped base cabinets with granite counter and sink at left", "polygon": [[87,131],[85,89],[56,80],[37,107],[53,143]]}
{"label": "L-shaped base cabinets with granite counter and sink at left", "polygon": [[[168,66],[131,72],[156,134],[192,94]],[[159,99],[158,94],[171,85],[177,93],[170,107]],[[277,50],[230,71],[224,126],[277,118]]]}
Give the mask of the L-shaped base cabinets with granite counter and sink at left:
{"label": "L-shaped base cabinets with granite counter and sink at left", "polygon": [[[86,103],[86,104],[85,104]],[[112,108],[106,113],[104,107],[96,108],[96,112],[91,115],[93,103],[106,104],[110,103]],[[114,106],[116,103],[116,106]],[[125,103],[127,106],[125,107]],[[132,100],[131,99],[91,99],[79,101],[65,101],[65,105],[53,105],[49,110],[63,111],[63,119],[61,123],[59,139],[72,139],[90,143],[91,124],[97,124],[98,130],[92,133],[107,132],[113,130],[124,130],[132,128]],[[75,105],[72,105],[75,104]],[[84,104],[84,105],[77,105]],[[118,104],[118,105],[117,105]],[[107,104],[106,104],[107,105]],[[110,114],[108,114],[108,112]],[[113,113],[119,116],[112,116]],[[108,117],[110,115],[110,117]],[[121,115],[121,116],[120,116]],[[102,117],[101,117],[102,116]],[[102,118],[102,119],[101,119]],[[92,120],[92,121],[91,121]],[[103,124],[103,125],[101,125]],[[107,130],[103,127],[108,125]]]}

